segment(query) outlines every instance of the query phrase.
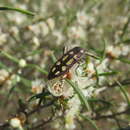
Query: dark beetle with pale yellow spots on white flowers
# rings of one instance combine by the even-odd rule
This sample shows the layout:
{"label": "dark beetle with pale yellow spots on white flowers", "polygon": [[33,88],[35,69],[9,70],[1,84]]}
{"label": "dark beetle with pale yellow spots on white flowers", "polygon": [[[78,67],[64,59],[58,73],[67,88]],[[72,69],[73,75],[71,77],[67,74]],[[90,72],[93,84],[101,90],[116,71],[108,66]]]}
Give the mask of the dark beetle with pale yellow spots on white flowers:
{"label": "dark beetle with pale yellow spots on white flowers", "polygon": [[74,47],[67,51],[50,69],[48,80],[67,74],[72,66],[79,62],[83,54],[84,50],[81,47]]}

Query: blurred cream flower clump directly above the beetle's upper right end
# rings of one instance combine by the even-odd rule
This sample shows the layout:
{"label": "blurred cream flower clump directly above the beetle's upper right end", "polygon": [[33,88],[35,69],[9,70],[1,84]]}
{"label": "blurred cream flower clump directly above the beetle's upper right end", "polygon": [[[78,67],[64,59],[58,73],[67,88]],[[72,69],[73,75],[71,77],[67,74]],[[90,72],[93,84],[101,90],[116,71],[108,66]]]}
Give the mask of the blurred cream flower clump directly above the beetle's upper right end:
{"label": "blurred cream flower clump directly above the beetle's upper right end", "polygon": [[73,26],[68,30],[68,36],[71,39],[85,39],[86,33],[80,26]]}

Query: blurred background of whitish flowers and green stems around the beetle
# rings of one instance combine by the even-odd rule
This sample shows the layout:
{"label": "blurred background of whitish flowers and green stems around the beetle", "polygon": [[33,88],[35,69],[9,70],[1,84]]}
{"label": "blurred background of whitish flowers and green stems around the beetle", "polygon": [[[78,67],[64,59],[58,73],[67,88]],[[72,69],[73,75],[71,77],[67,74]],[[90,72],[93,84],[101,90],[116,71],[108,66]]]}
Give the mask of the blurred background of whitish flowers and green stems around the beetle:
{"label": "blurred background of whitish flowers and green stems around the beetle", "polygon": [[[0,7],[4,6],[35,15],[0,10],[1,130],[119,130],[129,126],[129,0],[0,0]],[[68,127],[65,113],[47,120],[51,107],[35,109],[38,94],[46,89],[50,67],[62,56],[64,47],[75,46],[100,57],[100,62],[90,58],[86,63],[90,67],[87,73],[96,73],[95,93],[89,100],[92,111],[82,107],[78,112],[87,114],[97,128],[79,116],[74,116],[74,126]],[[28,103],[32,96],[36,99]],[[62,105],[55,111],[61,112]],[[20,127],[14,127],[17,120],[8,124],[19,113]]]}

